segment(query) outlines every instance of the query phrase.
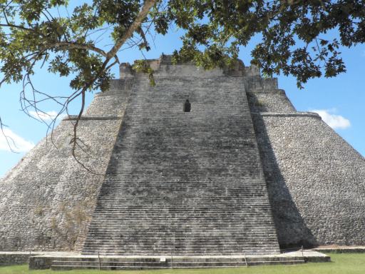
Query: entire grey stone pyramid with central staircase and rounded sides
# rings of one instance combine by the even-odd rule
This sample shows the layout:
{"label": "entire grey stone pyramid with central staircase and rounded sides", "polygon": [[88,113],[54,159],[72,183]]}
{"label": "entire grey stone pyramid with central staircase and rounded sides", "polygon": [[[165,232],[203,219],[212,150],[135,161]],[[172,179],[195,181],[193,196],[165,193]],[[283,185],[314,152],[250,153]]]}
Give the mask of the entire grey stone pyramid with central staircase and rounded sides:
{"label": "entire grey stone pyramid with central staircase and rounded sides", "polygon": [[[255,67],[150,60],[0,181],[0,250],[240,255],[365,244],[365,160]],[[191,110],[184,111],[186,100]],[[186,110],[186,109],[185,109]]]}

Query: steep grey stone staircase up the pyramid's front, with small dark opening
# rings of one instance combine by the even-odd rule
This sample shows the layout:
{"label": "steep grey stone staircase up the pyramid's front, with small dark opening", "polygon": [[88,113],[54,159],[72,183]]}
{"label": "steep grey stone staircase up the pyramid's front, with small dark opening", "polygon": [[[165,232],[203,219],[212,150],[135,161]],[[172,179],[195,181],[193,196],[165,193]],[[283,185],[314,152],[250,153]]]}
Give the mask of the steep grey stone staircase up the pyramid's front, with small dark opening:
{"label": "steep grey stone staircase up the pyramid's front, with small dark opening", "polygon": [[83,254],[279,253],[242,79],[156,83],[135,81]]}

